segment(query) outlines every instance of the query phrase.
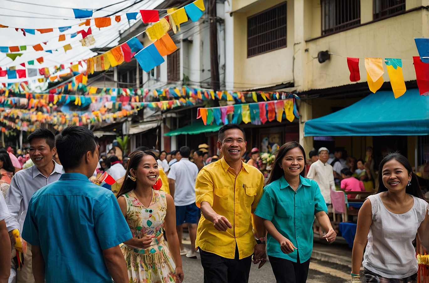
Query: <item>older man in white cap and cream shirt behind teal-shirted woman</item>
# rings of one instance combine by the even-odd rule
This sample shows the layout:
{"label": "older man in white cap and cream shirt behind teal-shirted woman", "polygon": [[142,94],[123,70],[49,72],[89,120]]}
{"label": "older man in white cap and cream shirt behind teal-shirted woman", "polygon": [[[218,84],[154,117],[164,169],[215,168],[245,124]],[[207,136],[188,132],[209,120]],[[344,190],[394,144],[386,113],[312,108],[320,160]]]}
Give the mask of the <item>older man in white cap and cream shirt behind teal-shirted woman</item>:
{"label": "older man in white cap and cream shirt behind teal-shirted woman", "polygon": [[319,160],[311,164],[307,178],[317,182],[327,205],[331,204],[331,190],[335,191],[332,166],[327,163],[329,150],[321,147],[318,151]]}

